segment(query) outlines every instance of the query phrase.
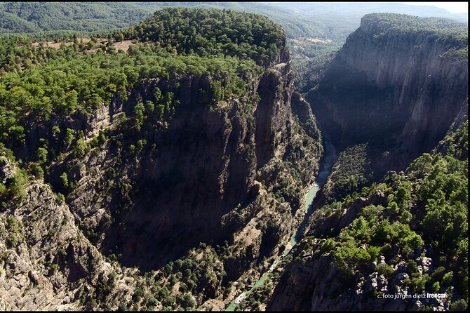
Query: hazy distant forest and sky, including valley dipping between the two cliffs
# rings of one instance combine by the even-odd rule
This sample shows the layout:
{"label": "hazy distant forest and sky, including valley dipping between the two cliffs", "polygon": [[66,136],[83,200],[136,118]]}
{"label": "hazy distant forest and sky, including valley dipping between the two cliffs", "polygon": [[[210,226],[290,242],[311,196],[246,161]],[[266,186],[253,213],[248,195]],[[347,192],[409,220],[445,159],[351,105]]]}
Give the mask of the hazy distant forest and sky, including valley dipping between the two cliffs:
{"label": "hazy distant forest and sky, including valley dipping between the two cliffs", "polygon": [[[5,2],[0,4],[0,34],[27,34],[32,38],[64,39],[77,34],[90,36],[123,29],[171,6],[231,9],[261,13],[285,29],[293,53],[295,88],[306,93],[318,85],[325,67],[334,58],[347,36],[359,26],[366,13],[401,12],[419,16],[441,16],[465,22],[460,15],[434,7],[417,8],[404,4],[339,4],[332,9],[322,3],[243,2]],[[53,18],[52,18],[53,17]],[[431,21],[431,20],[430,20]],[[446,23],[452,23],[446,20]],[[424,25],[422,25],[424,26]],[[431,27],[435,22],[430,22]],[[462,24],[462,27],[464,25]],[[333,42],[311,42],[319,38]],[[297,39],[302,44],[295,42]],[[223,42],[223,39],[222,39]],[[462,52],[462,51],[461,51]],[[461,55],[455,53],[450,57]]]}

